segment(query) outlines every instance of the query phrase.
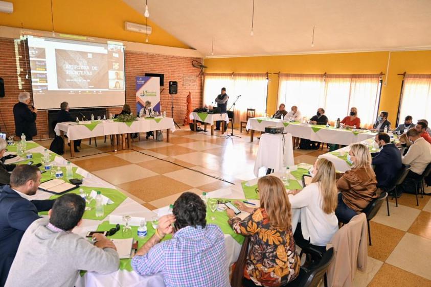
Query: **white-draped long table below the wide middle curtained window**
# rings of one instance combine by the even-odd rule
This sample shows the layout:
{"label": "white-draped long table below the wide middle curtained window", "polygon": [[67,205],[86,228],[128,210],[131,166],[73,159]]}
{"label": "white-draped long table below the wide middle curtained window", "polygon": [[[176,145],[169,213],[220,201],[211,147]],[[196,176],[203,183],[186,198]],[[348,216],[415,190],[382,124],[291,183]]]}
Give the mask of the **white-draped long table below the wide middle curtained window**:
{"label": "white-draped long table below the wide middle curtained window", "polygon": [[374,137],[376,133],[367,130],[346,130],[326,127],[324,125],[308,125],[299,122],[282,121],[277,118],[251,117],[247,121],[246,129],[250,130],[250,141],[253,141],[254,131],[265,131],[265,127],[281,127],[285,133],[293,137],[310,139],[337,145],[350,145],[351,143]]}

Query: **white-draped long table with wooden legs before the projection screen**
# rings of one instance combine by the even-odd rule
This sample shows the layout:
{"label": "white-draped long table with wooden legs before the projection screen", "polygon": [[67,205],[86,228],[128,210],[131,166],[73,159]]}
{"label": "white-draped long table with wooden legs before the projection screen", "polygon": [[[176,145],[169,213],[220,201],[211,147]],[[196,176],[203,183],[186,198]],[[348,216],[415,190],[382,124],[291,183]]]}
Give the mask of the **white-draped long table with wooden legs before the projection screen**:
{"label": "white-draped long table with wooden legs before the projection screen", "polygon": [[[166,129],[166,141],[169,142],[169,131],[175,131],[175,125],[172,117],[152,117],[152,118],[138,118],[137,121],[130,123],[116,122],[111,119],[95,121],[95,122],[64,122],[58,123],[54,131],[57,135],[64,137],[71,146],[71,157],[75,156],[74,142],[76,139],[92,138],[105,135],[122,135],[122,148],[131,146],[131,133],[141,133],[149,131],[157,131]],[[124,136],[126,135],[126,136]],[[117,137],[114,137],[114,145],[117,144]],[[65,146],[64,146],[65,147]]]}

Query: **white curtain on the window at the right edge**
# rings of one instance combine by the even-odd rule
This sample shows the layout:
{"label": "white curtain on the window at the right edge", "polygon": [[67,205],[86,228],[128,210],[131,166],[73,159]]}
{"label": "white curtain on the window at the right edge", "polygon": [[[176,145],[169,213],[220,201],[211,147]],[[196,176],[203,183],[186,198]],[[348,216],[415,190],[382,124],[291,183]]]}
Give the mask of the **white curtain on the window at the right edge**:
{"label": "white curtain on the window at the right edge", "polygon": [[405,75],[398,124],[407,115],[414,122],[421,118],[431,122],[431,75]]}

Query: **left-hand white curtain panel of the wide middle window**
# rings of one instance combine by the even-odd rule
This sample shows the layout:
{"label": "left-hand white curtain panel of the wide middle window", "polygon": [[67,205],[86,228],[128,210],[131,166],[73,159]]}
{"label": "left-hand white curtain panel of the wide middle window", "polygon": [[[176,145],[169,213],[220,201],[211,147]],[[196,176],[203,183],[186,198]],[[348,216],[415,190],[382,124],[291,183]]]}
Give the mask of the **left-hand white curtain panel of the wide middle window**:
{"label": "left-hand white curtain panel of the wide middle window", "polygon": [[277,106],[283,103],[288,111],[297,106],[309,118],[323,106],[323,88],[323,75],[280,74]]}

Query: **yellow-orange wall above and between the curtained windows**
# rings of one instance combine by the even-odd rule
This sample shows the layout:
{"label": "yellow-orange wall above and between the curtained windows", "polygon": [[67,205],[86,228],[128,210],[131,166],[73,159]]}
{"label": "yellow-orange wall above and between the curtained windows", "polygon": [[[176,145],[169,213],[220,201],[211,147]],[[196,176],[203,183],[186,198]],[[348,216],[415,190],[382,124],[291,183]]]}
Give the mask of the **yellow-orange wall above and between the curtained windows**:
{"label": "yellow-orange wall above and between the curtained windows", "polygon": [[[298,73],[379,74],[386,73],[389,52],[311,54],[205,59],[206,73]],[[379,110],[389,111],[395,123],[402,76],[431,74],[431,51],[392,52],[388,85],[382,87]],[[384,78],[383,78],[384,79]],[[267,112],[277,108],[278,75],[269,75]]]}

